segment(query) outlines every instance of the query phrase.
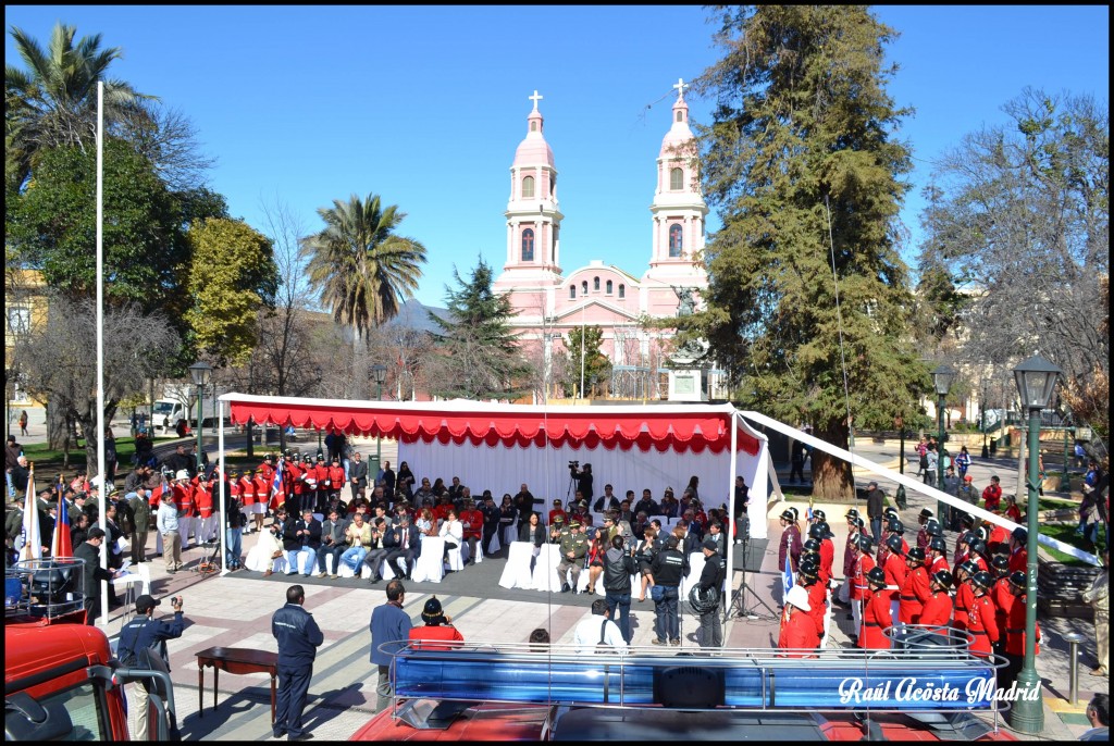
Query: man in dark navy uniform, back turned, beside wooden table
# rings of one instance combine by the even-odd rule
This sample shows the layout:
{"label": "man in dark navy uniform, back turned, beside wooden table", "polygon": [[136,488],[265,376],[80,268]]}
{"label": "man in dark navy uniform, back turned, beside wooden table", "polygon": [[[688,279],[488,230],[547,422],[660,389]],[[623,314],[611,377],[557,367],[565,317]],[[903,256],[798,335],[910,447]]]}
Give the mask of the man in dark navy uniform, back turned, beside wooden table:
{"label": "man in dark navy uniform, back turned, beside wooden table", "polygon": [[313,615],[302,608],[304,603],[305,589],[291,586],[286,606],[271,617],[271,634],[278,640],[278,705],[271,726],[275,738],[305,740],[310,736],[302,729],[302,710],[313,678],[313,660],[325,636]]}

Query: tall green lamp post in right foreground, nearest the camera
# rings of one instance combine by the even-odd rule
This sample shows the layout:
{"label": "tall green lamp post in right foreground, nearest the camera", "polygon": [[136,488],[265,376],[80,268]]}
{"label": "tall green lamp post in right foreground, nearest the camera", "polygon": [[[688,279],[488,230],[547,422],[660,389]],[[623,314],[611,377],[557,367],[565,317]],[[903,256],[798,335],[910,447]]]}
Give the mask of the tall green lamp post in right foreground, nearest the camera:
{"label": "tall green lamp post in right foreground, nearest the camera", "polygon": [[[1022,397],[1022,406],[1029,411],[1029,471],[1028,503],[1028,578],[1025,596],[1025,662],[1017,675],[1019,696],[1009,710],[1009,723],[1022,733],[1040,733],[1044,728],[1044,701],[1040,697],[1040,677],[1036,670],[1036,626],[1037,626],[1037,458],[1040,452],[1040,410],[1048,405],[1053,387],[1062,371],[1039,355],[1029,357],[1014,369],[1014,381]],[[1033,695],[1028,693],[1033,691]],[[1032,697],[1032,698],[1030,698]]]}

